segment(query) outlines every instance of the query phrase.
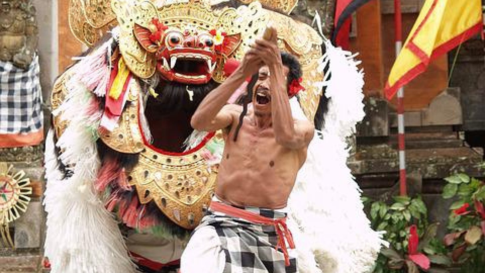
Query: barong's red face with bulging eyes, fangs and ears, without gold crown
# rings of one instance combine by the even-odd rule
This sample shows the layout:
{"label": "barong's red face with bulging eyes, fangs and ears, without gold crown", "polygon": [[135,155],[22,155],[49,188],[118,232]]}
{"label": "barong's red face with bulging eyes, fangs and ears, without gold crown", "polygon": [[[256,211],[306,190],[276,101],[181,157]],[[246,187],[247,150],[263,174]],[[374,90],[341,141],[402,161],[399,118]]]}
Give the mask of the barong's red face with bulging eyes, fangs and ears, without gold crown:
{"label": "barong's red face with bulging eyes, fangs and ears, without gold crown", "polygon": [[184,30],[167,28],[153,19],[150,28],[135,25],[135,36],[140,45],[155,53],[157,70],[167,81],[182,84],[207,84],[217,69],[238,46],[241,35],[227,35],[222,31],[210,32],[187,27]]}

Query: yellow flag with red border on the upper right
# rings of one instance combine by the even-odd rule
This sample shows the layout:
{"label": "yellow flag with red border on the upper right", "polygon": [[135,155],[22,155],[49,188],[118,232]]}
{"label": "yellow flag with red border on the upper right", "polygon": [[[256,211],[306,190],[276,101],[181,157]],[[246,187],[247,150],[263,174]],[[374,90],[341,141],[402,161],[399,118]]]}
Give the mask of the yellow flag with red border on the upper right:
{"label": "yellow flag with red border on the upper right", "polygon": [[391,99],[429,62],[483,30],[481,0],[426,0],[385,87]]}

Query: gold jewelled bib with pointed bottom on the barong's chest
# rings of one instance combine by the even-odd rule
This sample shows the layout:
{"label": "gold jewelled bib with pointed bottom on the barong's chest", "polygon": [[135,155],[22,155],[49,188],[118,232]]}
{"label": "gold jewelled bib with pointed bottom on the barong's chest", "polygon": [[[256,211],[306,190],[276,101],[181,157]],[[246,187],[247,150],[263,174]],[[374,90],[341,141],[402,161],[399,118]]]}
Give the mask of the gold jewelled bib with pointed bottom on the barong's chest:
{"label": "gold jewelled bib with pointed bottom on the barong's chest", "polygon": [[215,177],[199,152],[165,155],[148,147],[129,173],[142,204],[153,200],[168,218],[187,229],[193,229],[204,216]]}

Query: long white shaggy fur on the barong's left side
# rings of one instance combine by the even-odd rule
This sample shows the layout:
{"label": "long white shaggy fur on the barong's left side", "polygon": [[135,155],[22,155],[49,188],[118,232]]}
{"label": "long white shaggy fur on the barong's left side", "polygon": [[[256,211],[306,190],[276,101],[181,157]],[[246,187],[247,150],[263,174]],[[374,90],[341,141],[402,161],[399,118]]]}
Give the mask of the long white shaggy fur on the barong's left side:
{"label": "long white shaggy fur on the barong's left side", "polygon": [[53,114],[69,122],[56,146],[70,177],[58,170],[52,131],[46,142],[45,256],[51,273],[134,273],[118,225],[93,188],[100,162],[91,128],[101,114],[87,116],[91,94],[85,85],[70,80],[66,86],[68,96]]}

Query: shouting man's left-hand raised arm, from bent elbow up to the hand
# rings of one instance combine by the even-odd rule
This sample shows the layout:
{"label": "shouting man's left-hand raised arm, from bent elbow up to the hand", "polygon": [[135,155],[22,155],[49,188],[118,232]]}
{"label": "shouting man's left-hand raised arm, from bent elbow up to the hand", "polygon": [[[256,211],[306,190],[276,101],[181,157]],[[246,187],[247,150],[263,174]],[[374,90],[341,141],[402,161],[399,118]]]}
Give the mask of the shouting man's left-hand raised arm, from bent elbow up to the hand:
{"label": "shouting man's left-hand raised arm, from bent elbow up to the hand", "polygon": [[254,52],[248,51],[241,65],[221,85],[209,92],[200,103],[191,119],[192,128],[200,131],[215,131],[231,125],[235,109],[224,105],[245,79],[258,71],[261,64]]}

